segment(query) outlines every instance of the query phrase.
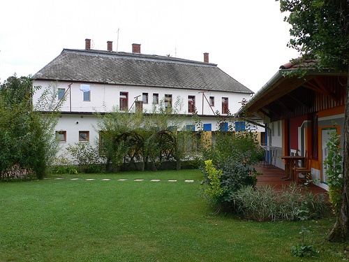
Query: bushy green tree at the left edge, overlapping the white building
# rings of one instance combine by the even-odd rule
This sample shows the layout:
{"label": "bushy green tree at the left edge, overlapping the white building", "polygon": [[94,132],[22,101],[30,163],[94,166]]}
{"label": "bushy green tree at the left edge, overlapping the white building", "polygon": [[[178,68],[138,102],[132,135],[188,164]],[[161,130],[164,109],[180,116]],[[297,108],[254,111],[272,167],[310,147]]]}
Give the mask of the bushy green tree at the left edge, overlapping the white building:
{"label": "bushy green tree at the left edge, overlapping the white building", "polygon": [[34,106],[31,97],[39,87],[32,84],[14,75],[0,86],[0,178],[43,178],[57,152],[53,128],[58,108],[50,108],[57,102],[57,88],[47,88]]}

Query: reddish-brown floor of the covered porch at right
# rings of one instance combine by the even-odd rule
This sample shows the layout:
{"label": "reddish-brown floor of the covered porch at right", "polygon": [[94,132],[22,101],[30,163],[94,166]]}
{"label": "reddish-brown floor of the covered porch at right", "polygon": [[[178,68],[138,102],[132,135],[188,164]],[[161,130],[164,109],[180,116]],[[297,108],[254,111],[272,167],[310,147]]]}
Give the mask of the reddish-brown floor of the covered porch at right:
{"label": "reddish-brown floor of the covered porch at right", "polygon": [[[277,168],[276,166],[272,166],[272,168],[266,168],[262,163],[255,166],[257,171],[262,172],[263,175],[258,175],[257,179],[257,187],[262,184],[269,184],[274,187],[276,190],[281,190],[283,186],[287,186],[292,184],[291,181],[285,181],[281,179],[281,177],[285,176],[285,170],[281,168]],[[325,189],[321,187],[317,187],[314,184],[309,184],[309,190],[313,193],[327,193]]]}

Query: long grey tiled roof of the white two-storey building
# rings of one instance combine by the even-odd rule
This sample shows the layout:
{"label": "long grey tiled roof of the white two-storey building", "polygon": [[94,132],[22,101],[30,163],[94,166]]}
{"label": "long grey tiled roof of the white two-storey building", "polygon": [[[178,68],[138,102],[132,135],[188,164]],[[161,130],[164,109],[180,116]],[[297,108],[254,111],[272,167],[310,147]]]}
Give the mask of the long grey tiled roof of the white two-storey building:
{"label": "long grey tiled roof of the white two-storey building", "polygon": [[253,93],[216,64],[101,50],[64,49],[33,78]]}

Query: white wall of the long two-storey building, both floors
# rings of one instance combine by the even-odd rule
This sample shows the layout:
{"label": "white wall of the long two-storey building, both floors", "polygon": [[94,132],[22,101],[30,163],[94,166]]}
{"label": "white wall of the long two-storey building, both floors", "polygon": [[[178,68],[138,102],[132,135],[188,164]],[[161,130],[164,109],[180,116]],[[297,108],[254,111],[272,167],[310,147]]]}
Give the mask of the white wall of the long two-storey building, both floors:
{"label": "white wall of the long two-storey building, both floors", "polygon": [[[84,92],[80,90],[80,85],[87,85],[86,83],[52,82],[51,86],[67,90],[68,85],[70,85],[70,92],[66,96],[66,101],[61,105],[62,113],[55,129],[56,131],[66,131],[66,141],[59,143],[61,147],[59,154],[66,154],[65,148],[68,147],[68,145],[79,142],[79,131],[89,131],[89,143],[94,147],[98,146],[98,117],[91,113],[108,112],[112,110],[113,106],[119,107],[120,92],[128,92],[128,108],[133,104],[135,96],[139,96],[138,100],[142,100],[142,93],[148,93],[149,103],[143,103],[144,112],[151,111],[153,105],[153,93],[158,94],[159,101],[164,98],[165,94],[172,94],[172,106],[174,106],[174,103],[177,101],[177,96],[181,96],[183,99],[181,113],[183,114],[187,114],[188,112],[188,96],[195,96],[195,107],[198,110],[200,120],[202,121],[202,124],[211,124],[211,131],[219,129],[217,126],[217,119],[214,115],[217,110],[219,112],[222,110],[222,97],[228,97],[228,108],[232,113],[237,112],[237,110],[241,108],[241,101],[243,99],[250,99],[249,94],[214,91],[205,92],[204,94],[207,100],[209,100],[209,96],[214,96],[214,106],[211,109],[200,90],[89,84],[91,89],[91,99],[90,101],[83,101]],[[34,86],[41,86],[41,89],[34,94],[33,101],[35,104],[42,92],[49,87],[49,82],[42,80],[35,81]],[[134,108],[135,105],[133,105],[131,111],[133,111]],[[191,119],[188,119],[188,123],[184,124],[193,124],[190,121]],[[264,129],[256,126],[255,131],[264,131]]]}

